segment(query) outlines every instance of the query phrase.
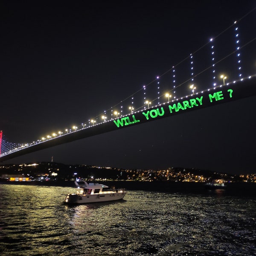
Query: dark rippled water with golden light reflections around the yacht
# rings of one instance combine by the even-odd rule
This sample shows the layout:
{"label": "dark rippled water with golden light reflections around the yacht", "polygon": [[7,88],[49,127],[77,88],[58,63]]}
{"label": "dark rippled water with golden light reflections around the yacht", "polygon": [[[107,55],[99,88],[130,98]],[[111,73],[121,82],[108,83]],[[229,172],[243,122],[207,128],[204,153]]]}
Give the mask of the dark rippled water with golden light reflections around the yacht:
{"label": "dark rippled water with golden light reflections around the yacht", "polygon": [[64,205],[70,187],[0,184],[0,255],[256,255],[256,197],[128,191]]}

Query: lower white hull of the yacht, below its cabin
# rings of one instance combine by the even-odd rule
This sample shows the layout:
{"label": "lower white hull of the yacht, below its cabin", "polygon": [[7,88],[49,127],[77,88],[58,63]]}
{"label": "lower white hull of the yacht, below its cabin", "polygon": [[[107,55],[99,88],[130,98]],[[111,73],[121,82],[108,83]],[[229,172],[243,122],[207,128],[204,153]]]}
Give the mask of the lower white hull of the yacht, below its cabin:
{"label": "lower white hull of the yacht, below its cabin", "polygon": [[64,203],[66,204],[89,204],[98,202],[117,201],[124,198],[126,192],[113,192],[108,194],[78,195],[68,194]]}

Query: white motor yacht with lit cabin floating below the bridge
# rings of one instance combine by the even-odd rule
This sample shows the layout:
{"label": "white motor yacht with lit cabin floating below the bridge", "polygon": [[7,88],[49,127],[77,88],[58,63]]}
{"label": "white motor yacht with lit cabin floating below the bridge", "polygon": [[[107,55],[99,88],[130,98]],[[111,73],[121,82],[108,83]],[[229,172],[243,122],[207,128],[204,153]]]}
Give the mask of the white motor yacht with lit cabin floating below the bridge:
{"label": "white motor yacht with lit cabin floating below the bridge", "polygon": [[108,186],[99,183],[87,183],[84,180],[75,181],[76,193],[68,194],[64,200],[67,204],[87,204],[106,201],[116,201],[124,198],[125,189],[106,189]]}

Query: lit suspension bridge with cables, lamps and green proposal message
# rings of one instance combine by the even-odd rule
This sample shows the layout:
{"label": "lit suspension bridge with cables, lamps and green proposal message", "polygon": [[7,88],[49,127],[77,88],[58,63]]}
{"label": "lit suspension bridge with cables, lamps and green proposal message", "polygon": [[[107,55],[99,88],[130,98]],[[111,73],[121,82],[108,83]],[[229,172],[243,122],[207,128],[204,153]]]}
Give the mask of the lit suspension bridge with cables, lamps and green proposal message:
{"label": "lit suspension bridge with cables, lamps and green proposal message", "polygon": [[[0,161],[41,149],[201,108],[256,96],[256,29],[253,12],[187,55],[137,92],[78,126],[28,143],[0,131]],[[0,127],[1,128],[1,127]]]}

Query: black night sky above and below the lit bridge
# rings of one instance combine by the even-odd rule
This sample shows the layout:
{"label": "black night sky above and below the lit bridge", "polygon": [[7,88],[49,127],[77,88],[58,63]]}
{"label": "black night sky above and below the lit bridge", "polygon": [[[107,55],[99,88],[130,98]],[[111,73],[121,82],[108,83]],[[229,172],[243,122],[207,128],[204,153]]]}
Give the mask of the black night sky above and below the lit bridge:
{"label": "black night sky above and below the lit bridge", "polygon": [[[255,7],[253,0],[6,1],[0,7],[0,130],[10,142],[27,143],[80,125],[140,90]],[[244,35],[253,38],[252,17],[255,10],[242,22]],[[245,58],[254,59],[255,73],[255,51],[248,51]],[[255,99],[4,163],[50,161],[53,156],[70,164],[255,173]]]}

